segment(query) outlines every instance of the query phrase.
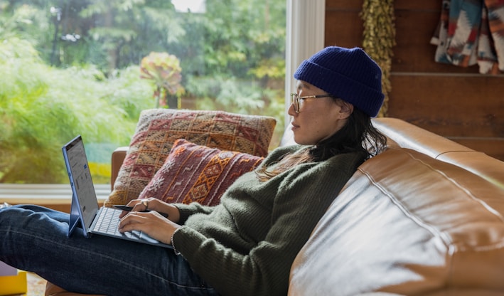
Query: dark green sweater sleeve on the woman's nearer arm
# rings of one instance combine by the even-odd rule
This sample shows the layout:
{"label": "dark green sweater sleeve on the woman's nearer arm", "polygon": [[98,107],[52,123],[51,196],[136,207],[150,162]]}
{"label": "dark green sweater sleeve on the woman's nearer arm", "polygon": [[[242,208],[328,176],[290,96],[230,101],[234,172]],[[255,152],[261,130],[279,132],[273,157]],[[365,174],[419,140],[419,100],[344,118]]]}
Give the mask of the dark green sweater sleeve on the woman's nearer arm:
{"label": "dark green sweater sleeve on the woman's nearer arm", "polygon": [[222,295],[286,295],[294,258],[362,161],[360,154],[342,154],[275,176],[277,190],[262,196],[274,199],[271,220],[260,222],[269,223],[267,234],[248,253],[187,226],[173,237],[176,249]]}

